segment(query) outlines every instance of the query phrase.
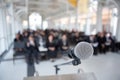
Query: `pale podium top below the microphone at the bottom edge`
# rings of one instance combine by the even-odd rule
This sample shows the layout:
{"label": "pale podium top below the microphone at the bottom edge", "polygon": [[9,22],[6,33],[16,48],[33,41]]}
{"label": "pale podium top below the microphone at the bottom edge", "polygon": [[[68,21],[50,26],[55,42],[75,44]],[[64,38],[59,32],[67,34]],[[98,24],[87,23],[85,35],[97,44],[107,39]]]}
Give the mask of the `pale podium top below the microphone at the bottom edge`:
{"label": "pale podium top below the microphone at the bottom edge", "polygon": [[97,80],[94,73],[26,77],[24,80]]}

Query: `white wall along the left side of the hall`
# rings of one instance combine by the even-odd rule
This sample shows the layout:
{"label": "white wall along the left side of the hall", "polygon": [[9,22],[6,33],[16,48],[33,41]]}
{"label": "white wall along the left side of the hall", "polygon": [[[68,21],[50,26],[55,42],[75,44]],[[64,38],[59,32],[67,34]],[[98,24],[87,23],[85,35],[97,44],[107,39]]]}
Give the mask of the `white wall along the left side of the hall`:
{"label": "white wall along the left side of the hall", "polygon": [[7,8],[0,7],[0,54],[6,49],[15,38],[15,34],[22,30],[22,24],[15,19],[12,4]]}

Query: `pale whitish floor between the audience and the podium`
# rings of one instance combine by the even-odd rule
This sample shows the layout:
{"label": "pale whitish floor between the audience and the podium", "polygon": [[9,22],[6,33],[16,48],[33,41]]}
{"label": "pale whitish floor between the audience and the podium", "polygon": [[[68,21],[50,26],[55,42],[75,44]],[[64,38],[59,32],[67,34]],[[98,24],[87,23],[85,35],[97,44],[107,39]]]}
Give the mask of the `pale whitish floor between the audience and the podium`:
{"label": "pale whitish floor between the audience and the podium", "polygon": [[[12,52],[7,54],[4,59],[12,58]],[[55,75],[56,64],[68,62],[64,58],[57,59],[55,62],[42,61],[39,64],[29,66],[25,63],[24,59],[13,61],[3,61],[0,63],[0,80],[23,80],[32,72],[32,68],[39,73],[40,76]],[[78,66],[64,65],[59,66],[60,71],[58,74],[71,74],[77,73],[81,69],[81,73],[93,72],[97,80],[120,80],[120,53],[101,54],[92,56],[91,58],[81,61]],[[29,71],[30,70],[30,71]],[[33,71],[34,72],[34,71]],[[35,75],[33,73],[33,75]]]}

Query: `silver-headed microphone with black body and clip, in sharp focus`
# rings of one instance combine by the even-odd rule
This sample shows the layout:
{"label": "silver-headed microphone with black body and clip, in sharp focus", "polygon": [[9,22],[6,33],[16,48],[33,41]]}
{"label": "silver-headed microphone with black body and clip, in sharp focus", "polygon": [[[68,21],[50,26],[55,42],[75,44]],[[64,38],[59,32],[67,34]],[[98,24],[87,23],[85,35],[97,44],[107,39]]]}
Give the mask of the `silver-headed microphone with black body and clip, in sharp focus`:
{"label": "silver-headed microphone with black body and clip, in sharp focus", "polygon": [[72,64],[81,64],[80,60],[88,59],[93,55],[93,47],[88,42],[79,42],[73,50],[70,50],[68,56],[73,59]]}

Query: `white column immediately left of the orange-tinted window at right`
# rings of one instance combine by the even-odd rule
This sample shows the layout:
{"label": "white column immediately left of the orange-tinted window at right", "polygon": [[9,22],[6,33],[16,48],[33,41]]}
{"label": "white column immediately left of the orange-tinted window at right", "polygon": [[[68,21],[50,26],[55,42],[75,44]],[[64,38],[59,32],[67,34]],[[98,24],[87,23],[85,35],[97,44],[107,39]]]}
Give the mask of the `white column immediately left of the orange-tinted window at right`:
{"label": "white column immediately left of the orange-tinted window at right", "polygon": [[97,30],[97,32],[102,32],[103,31],[103,27],[102,27],[102,4],[100,2],[98,2],[98,7],[97,7],[96,30]]}

